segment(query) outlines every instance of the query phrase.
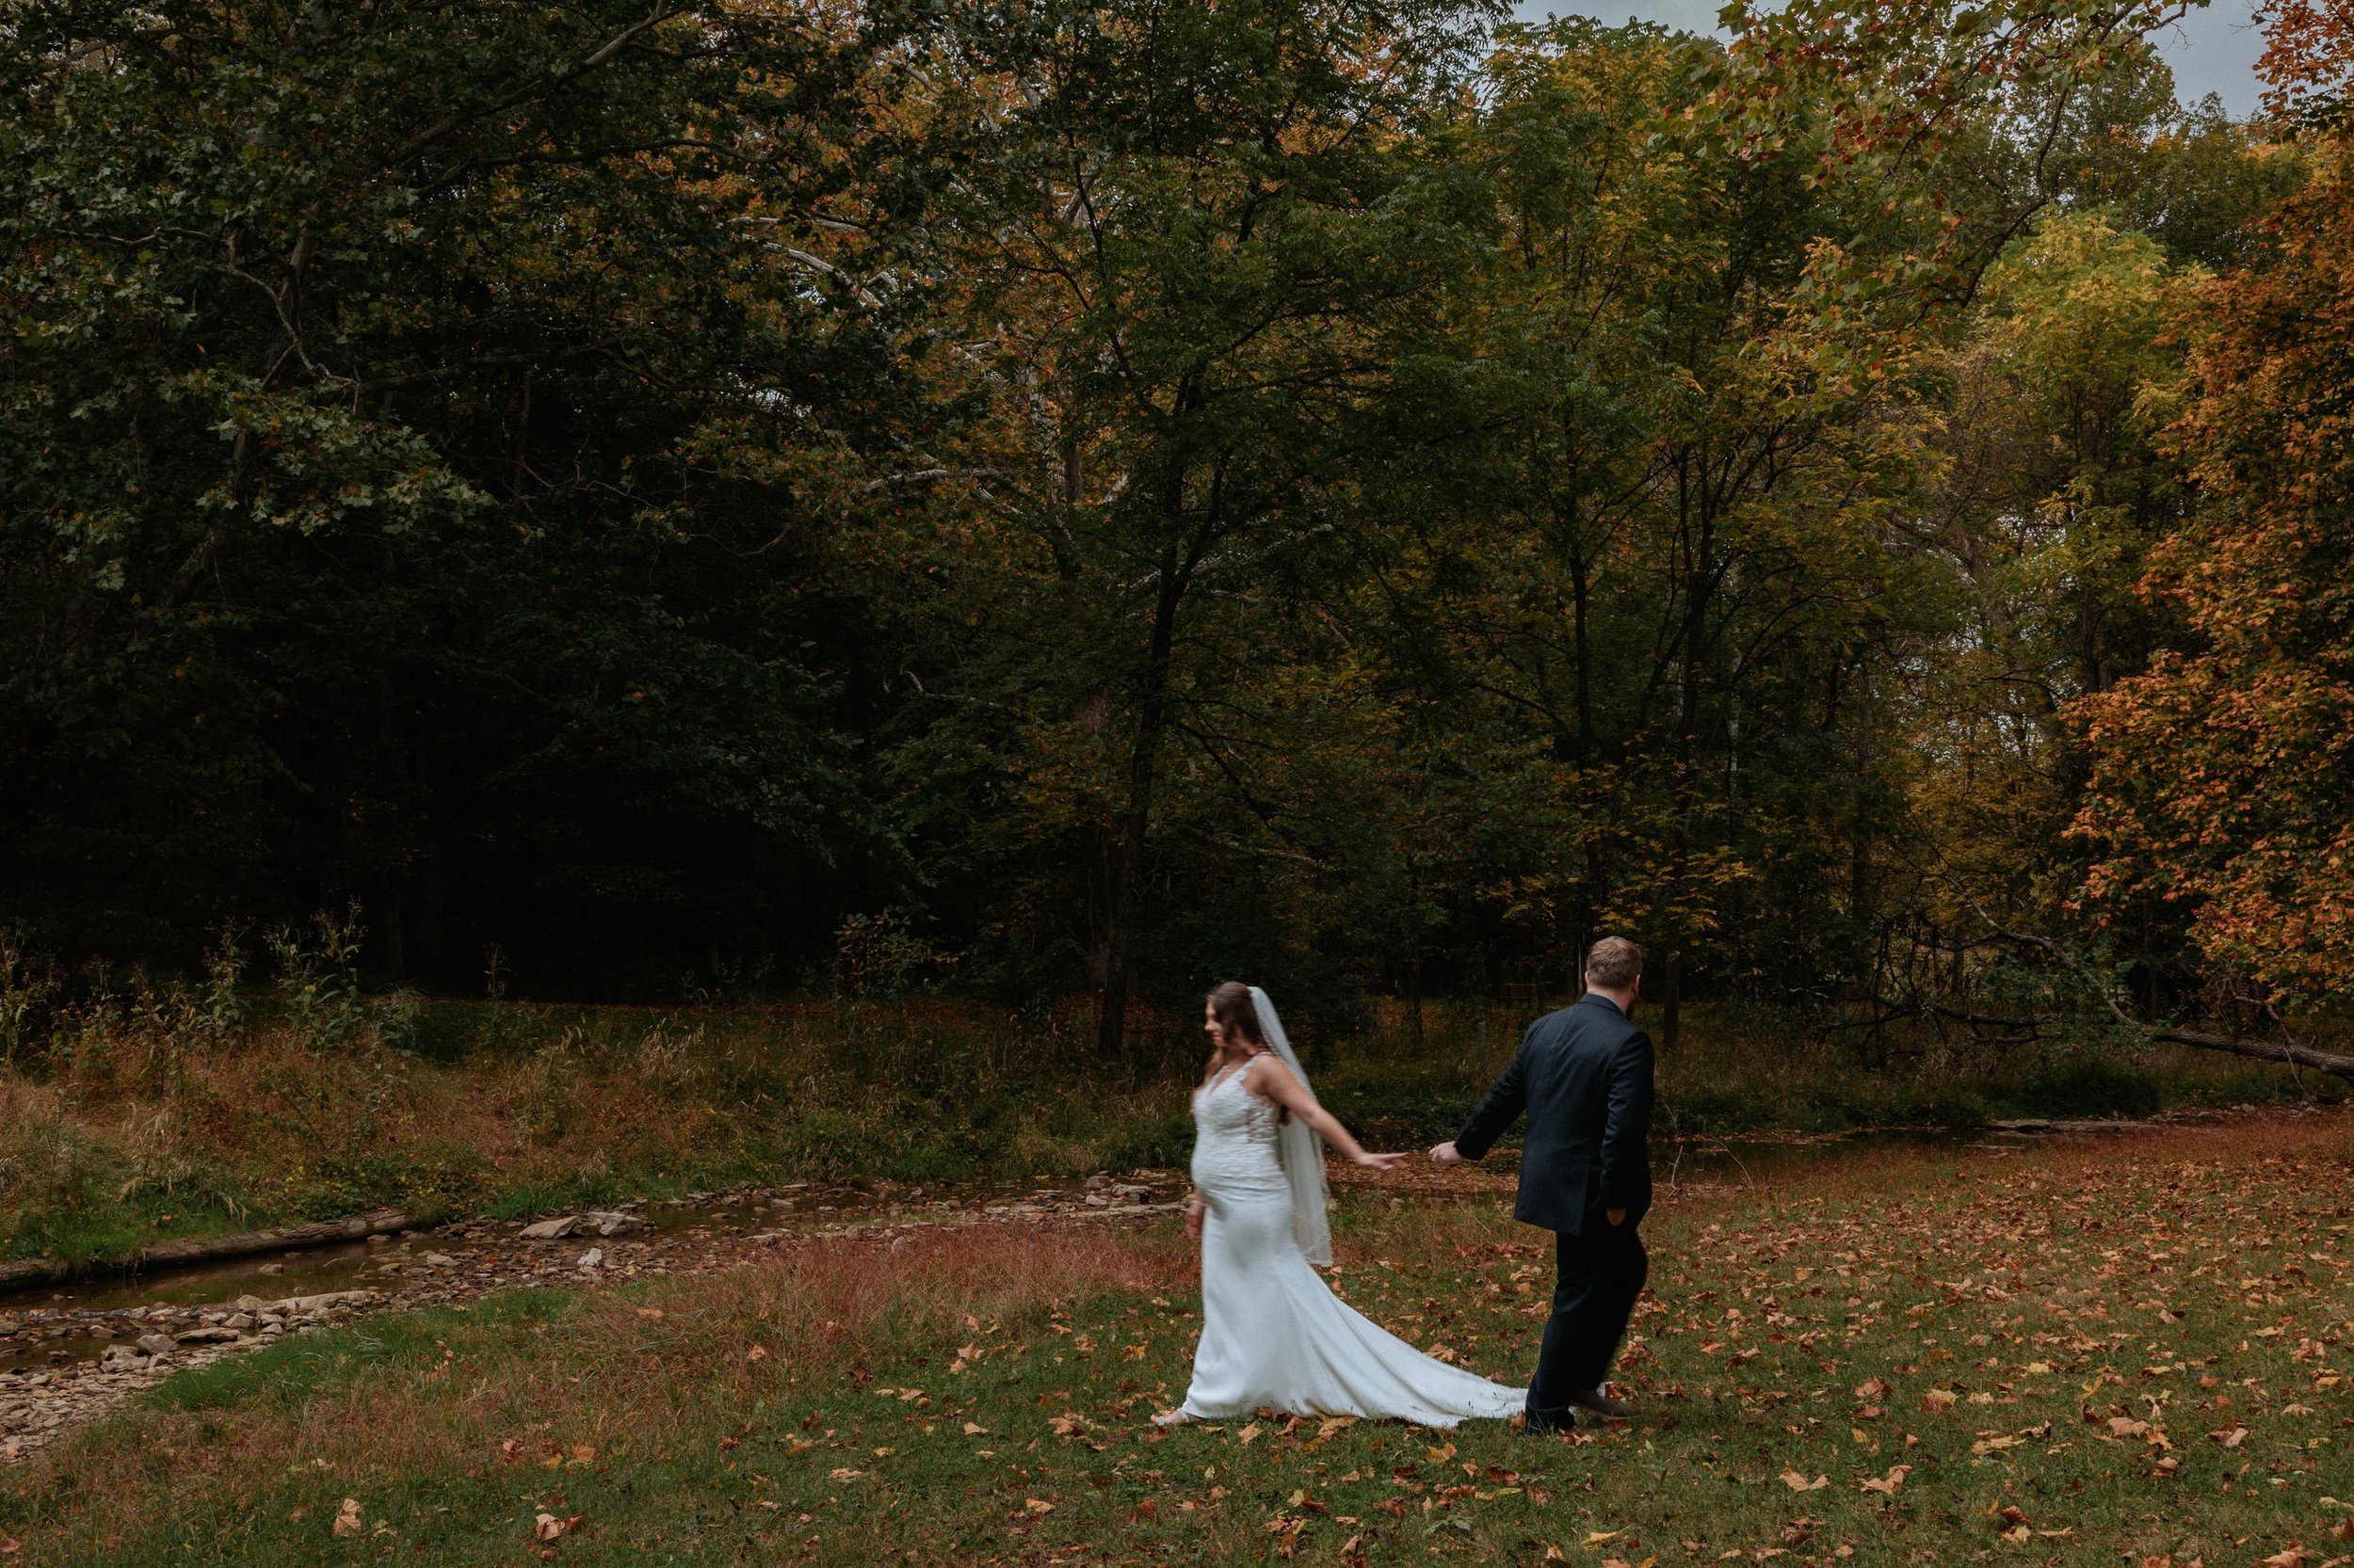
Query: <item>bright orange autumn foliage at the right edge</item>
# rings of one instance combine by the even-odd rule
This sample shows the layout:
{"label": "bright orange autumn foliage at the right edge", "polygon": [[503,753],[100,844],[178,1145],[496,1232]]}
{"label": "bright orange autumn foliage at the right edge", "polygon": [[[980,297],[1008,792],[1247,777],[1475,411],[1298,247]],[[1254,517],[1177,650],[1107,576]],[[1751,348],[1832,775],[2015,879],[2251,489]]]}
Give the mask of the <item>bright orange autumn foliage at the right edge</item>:
{"label": "bright orange autumn foliage at the right edge", "polygon": [[2173,431],[2203,501],[2142,582],[2196,645],[2076,704],[2074,831],[2093,904],[2185,904],[2215,965],[2323,998],[2354,982],[2354,137],[2309,170],[2274,257],[2206,290]]}

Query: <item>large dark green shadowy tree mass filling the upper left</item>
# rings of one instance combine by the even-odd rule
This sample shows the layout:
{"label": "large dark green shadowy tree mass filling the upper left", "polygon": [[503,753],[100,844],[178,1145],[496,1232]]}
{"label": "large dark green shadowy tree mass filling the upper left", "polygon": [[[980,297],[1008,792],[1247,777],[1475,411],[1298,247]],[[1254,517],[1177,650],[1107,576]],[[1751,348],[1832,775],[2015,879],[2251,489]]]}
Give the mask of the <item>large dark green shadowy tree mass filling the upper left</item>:
{"label": "large dark green shadowy tree mass filling the upper left", "polygon": [[897,33],[12,7],[14,906],[120,946],[358,895],[395,977],[803,918],[864,838],[817,567],[904,407]]}

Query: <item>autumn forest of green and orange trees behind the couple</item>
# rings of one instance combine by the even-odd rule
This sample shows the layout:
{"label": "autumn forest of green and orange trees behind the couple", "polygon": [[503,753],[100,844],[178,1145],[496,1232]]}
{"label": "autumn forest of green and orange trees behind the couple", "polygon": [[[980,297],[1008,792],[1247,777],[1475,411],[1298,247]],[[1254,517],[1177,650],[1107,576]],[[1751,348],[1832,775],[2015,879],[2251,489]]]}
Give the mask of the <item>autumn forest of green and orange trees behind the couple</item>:
{"label": "autumn forest of green and orange trees behind the couple", "polygon": [[1467,1057],[1601,932],[1669,1048],[2345,1076],[2354,28],[2234,120],[2170,14],[12,5],[9,1092]]}

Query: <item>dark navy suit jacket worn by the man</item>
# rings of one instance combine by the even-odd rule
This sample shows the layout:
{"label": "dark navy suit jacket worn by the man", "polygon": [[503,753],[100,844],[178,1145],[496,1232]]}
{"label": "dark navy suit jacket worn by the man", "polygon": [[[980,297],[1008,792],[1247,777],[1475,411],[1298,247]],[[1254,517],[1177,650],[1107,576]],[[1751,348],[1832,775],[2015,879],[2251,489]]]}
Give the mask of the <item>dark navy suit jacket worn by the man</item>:
{"label": "dark navy suit jacket worn by the man", "polygon": [[1610,1208],[1636,1224],[1650,1210],[1650,1036],[1587,991],[1528,1026],[1455,1147],[1476,1161],[1528,1111],[1514,1217],[1565,1236],[1603,1224]]}

